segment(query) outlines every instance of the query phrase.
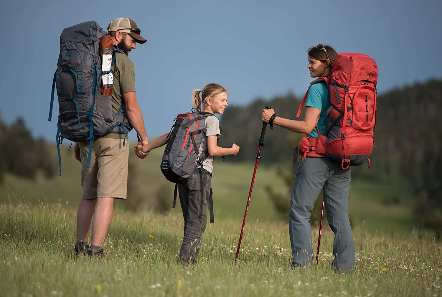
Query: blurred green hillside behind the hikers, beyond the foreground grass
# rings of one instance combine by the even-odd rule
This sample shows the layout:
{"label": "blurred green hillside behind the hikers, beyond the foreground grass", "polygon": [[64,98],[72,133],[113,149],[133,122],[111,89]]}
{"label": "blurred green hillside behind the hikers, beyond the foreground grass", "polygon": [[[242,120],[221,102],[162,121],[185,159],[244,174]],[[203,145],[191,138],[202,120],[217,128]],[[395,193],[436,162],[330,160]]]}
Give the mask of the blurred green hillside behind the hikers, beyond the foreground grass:
{"label": "blurred green hillside behind the hikers, beyond the foreground grass", "polygon": [[[131,145],[132,147],[132,145]],[[51,147],[54,160],[57,159],[55,145]],[[266,147],[262,156],[266,158]],[[76,209],[81,197],[80,163],[73,158],[73,150],[63,147],[62,175],[46,179],[37,175],[30,180],[7,174],[0,185],[0,204],[17,204],[17,199],[28,205],[40,202],[67,204],[68,209]],[[130,154],[129,191],[127,201],[117,201],[117,209],[152,211],[165,214],[171,212],[180,216],[179,203],[171,209],[174,185],[168,182],[159,169],[161,148],[152,151],[144,160]],[[234,158],[235,156],[228,156]],[[215,221],[232,219],[241,224],[247,202],[254,156],[244,162],[214,161],[212,187],[214,192]],[[276,166],[259,163],[248,212],[249,221],[287,221],[291,189],[276,174]],[[365,170],[368,170],[365,168]],[[294,177],[294,176],[293,176]],[[265,187],[271,185],[286,197],[287,215],[280,215],[267,197]],[[9,190],[9,188],[11,190]],[[15,198],[14,197],[17,198]],[[411,187],[397,180],[370,181],[355,179],[351,183],[349,213],[354,227],[370,232],[412,232],[413,197]],[[320,209],[314,209],[320,212]],[[325,220],[326,221],[326,220]],[[325,222],[327,226],[327,223]],[[328,227],[325,227],[328,228]]]}

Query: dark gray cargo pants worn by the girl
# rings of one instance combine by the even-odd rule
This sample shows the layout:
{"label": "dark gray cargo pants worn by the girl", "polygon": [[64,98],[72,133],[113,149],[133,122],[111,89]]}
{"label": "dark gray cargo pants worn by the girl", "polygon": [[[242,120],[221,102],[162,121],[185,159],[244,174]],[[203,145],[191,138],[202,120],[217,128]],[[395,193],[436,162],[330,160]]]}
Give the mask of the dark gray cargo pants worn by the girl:
{"label": "dark gray cargo pants worn by the girl", "polygon": [[210,193],[211,175],[206,174],[202,184],[202,173],[195,172],[187,183],[178,184],[179,202],[183,210],[184,236],[178,262],[195,264],[201,245],[201,236],[206,230],[207,202]]}

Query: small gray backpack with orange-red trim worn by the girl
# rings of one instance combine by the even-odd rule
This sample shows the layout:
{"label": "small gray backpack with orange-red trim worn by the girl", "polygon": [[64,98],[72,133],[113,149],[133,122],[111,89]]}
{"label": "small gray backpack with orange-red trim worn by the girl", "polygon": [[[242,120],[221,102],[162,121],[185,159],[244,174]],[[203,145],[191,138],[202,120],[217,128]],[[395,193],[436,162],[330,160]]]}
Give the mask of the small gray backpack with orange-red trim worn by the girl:
{"label": "small gray backpack with orange-red trim worn by the girl", "polygon": [[[161,172],[163,172],[166,179],[175,183],[172,208],[175,208],[178,184],[187,182],[191,175],[200,166],[202,171],[202,183],[206,183],[206,171],[204,170],[202,163],[209,156],[209,152],[206,150],[200,155],[199,147],[203,137],[206,137],[206,118],[209,116],[214,115],[194,109],[190,113],[178,114],[174,120],[175,124],[172,126],[168,135],[168,142],[164,149],[160,166]],[[222,158],[225,160],[224,156],[222,156]],[[213,223],[212,194],[212,189],[210,189],[208,202],[211,223]]]}

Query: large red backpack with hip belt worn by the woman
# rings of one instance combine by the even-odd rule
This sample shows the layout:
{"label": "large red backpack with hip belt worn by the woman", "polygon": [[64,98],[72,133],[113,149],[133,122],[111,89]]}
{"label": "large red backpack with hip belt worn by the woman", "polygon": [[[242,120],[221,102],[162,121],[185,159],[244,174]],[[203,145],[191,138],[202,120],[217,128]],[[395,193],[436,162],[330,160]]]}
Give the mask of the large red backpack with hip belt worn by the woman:
{"label": "large red backpack with hip belt worn by the woman", "polygon": [[[341,164],[343,169],[368,160],[370,168],[376,124],[376,62],[362,53],[339,53],[330,76],[313,80],[310,86],[324,81],[329,87],[331,102],[327,136],[320,135],[317,127],[319,138],[305,135],[297,148],[301,159],[327,156]],[[308,93],[309,89],[302,99],[297,118]]]}

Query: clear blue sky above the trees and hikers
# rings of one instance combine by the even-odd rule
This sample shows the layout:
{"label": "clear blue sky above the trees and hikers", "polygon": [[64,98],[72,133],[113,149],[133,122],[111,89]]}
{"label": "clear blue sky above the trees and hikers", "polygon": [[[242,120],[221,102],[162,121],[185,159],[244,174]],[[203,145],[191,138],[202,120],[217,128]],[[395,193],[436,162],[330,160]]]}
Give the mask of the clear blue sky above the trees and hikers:
{"label": "clear blue sky above the trees and hikers", "polygon": [[305,50],[317,43],[373,57],[380,93],[442,77],[442,1],[436,0],[10,1],[0,11],[1,118],[22,116],[34,136],[50,141],[59,37],[65,27],[88,20],[106,29],[126,16],[148,40],[129,57],[151,136],[167,132],[175,115],[191,108],[192,91],[206,83],[227,88],[230,104],[303,95],[312,80]]}

